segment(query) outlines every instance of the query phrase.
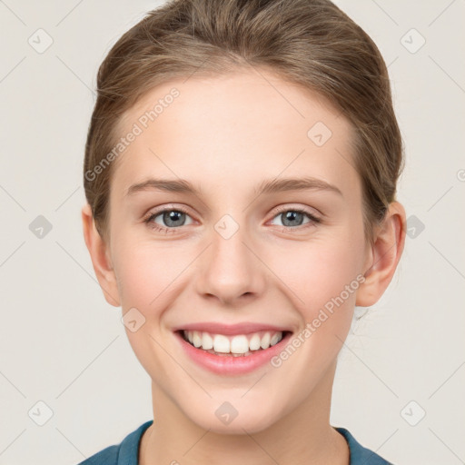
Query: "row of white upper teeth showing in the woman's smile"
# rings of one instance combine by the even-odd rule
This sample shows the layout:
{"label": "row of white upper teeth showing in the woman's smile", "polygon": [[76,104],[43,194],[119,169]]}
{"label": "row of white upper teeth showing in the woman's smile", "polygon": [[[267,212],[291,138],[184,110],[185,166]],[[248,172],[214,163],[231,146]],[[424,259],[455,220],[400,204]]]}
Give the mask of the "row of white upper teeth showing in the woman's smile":
{"label": "row of white upper teeth showing in the woman's smile", "polygon": [[249,350],[268,349],[282,340],[282,331],[260,331],[236,336],[211,334],[205,331],[183,331],[183,333],[194,347],[223,353],[246,353]]}

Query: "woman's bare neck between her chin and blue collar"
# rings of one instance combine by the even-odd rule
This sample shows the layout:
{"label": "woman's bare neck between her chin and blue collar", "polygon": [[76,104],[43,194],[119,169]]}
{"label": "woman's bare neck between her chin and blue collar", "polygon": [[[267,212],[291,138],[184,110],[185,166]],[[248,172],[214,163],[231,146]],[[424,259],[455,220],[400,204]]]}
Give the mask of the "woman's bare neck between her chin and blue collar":
{"label": "woman's bare neck between her chin and blue collar", "polygon": [[152,383],[154,421],[143,434],[139,463],[349,465],[347,442],[329,420],[335,368],[336,361],[305,401],[252,434],[204,430]]}

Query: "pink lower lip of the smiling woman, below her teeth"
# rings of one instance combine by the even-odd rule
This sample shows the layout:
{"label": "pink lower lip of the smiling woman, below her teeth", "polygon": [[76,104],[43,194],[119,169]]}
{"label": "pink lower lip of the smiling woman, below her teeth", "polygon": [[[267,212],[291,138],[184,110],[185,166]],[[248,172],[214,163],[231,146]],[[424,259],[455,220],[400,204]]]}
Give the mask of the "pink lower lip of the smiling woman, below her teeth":
{"label": "pink lower lip of the smiling woman, below her teeth", "polygon": [[181,341],[183,350],[198,365],[214,373],[238,375],[257,370],[262,367],[262,365],[269,362],[272,357],[282,351],[284,346],[291,339],[292,333],[287,332],[281,341],[268,349],[255,351],[251,355],[241,357],[234,357],[233,355],[215,355],[214,353],[193,347],[193,345],[184,340],[181,331],[176,331],[175,335],[179,341]]}

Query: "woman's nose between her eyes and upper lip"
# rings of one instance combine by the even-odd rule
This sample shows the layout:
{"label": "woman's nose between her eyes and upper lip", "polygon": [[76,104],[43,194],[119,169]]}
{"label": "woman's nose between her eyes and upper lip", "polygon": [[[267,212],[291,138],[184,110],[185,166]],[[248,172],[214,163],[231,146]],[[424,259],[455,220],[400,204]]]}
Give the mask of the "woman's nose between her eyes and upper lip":
{"label": "woman's nose between her eyes and upper lip", "polygon": [[229,238],[213,229],[197,270],[197,292],[234,307],[257,298],[265,286],[266,267],[256,249],[245,228],[239,227]]}

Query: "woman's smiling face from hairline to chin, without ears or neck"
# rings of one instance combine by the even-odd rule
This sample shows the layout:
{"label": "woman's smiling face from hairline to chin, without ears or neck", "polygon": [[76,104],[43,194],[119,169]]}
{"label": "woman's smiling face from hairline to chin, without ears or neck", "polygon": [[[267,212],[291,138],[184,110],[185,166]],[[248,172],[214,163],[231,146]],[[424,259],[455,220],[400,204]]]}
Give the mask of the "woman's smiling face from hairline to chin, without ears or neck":
{"label": "woman's smiling face from hairline to chin, without ears or neck", "polygon": [[[370,264],[347,120],[261,71],[163,84],[124,115],[130,132],[108,252],[154,401],[242,433],[331,391]],[[195,348],[186,328],[194,344],[252,354]]]}

